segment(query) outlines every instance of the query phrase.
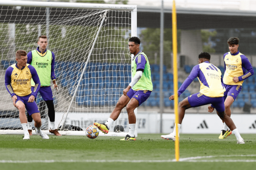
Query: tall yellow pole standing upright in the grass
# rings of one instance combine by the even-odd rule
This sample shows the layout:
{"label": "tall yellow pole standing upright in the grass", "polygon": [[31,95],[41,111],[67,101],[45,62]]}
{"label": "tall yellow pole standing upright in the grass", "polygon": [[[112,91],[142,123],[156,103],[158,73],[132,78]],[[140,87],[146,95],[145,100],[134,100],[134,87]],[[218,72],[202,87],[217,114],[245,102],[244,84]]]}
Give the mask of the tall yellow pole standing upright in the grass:
{"label": "tall yellow pole standing upright in the grass", "polygon": [[175,159],[180,159],[180,141],[178,137],[178,68],[177,68],[177,19],[176,19],[176,5],[173,1],[172,11],[173,21],[173,85],[174,85],[174,110],[175,110],[175,125],[176,125],[176,140],[175,140]]}

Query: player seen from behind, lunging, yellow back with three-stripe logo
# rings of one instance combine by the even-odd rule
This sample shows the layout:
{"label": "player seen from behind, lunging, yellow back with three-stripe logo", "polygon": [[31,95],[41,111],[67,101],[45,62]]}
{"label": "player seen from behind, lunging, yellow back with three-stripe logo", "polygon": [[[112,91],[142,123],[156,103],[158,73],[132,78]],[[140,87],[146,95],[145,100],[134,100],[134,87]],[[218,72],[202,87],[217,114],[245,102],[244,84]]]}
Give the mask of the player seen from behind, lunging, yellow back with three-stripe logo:
{"label": "player seen from behind, lunging, yellow back with three-stripe logo", "polygon": [[[197,77],[201,84],[200,92],[192,94],[181,101],[178,105],[179,112],[179,124],[178,129],[182,124],[182,120],[185,115],[185,110],[191,107],[198,107],[207,104],[212,104],[217,111],[218,116],[223,120],[228,127],[233,131],[235,137],[237,137],[238,144],[244,144],[244,139],[240,136],[238,130],[235,127],[234,122],[228,115],[225,114],[224,106],[224,92],[225,88],[222,83],[221,71],[213,64],[210,64],[211,56],[209,53],[201,53],[198,56],[198,65],[195,65],[190,72],[189,77],[183,82],[182,86],[178,90],[178,96],[182,94],[189,84]],[[170,100],[174,100],[174,95],[171,95]],[[177,99],[176,99],[177,100]],[[176,125],[175,125],[176,126]],[[174,131],[168,135],[162,135],[164,139],[172,139],[175,141],[176,136],[179,137],[179,134],[176,135],[176,127]]]}

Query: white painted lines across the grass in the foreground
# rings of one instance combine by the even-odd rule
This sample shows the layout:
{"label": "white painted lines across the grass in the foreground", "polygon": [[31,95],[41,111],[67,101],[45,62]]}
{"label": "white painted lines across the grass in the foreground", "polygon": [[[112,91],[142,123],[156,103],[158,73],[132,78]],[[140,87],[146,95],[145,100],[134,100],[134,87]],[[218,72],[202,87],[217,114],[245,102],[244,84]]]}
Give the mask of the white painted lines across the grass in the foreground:
{"label": "white painted lines across the grass in the foreground", "polygon": [[[194,156],[188,158],[180,158],[179,161],[183,162],[256,162],[256,160],[198,160],[204,158],[216,158],[216,157],[251,157],[256,155],[216,155],[216,156]],[[127,162],[127,163],[161,163],[161,162],[176,162],[173,160],[0,160],[0,163],[62,163],[62,162],[80,162],[80,163],[111,163],[111,162]]]}

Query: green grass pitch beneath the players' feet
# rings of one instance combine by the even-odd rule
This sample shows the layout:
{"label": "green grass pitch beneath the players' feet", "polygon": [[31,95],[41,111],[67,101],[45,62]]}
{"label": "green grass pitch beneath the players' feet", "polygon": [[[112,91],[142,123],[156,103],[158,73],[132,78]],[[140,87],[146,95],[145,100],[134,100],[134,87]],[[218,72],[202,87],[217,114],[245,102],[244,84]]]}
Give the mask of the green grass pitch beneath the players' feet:
{"label": "green grass pitch beneath the players' feet", "polygon": [[[45,140],[22,135],[0,135],[1,170],[252,170],[256,167],[256,134],[181,134],[180,161],[175,162],[174,142],[160,134],[138,134],[136,141],[122,137],[89,139],[86,136],[50,136]],[[198,157],[197,157],[198,156]],[[195,157],[195,158],[192,158]]]}

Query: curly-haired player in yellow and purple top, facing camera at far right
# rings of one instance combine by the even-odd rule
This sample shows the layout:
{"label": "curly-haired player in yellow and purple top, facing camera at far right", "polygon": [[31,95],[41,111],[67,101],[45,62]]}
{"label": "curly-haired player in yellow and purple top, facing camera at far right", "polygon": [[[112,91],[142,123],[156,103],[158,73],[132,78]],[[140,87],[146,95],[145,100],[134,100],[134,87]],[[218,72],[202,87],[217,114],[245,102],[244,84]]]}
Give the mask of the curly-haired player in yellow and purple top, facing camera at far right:
{"label": "curly-haired player in yellow and purple top, facing camera at far right", "polygon": [[[248,58],[246,58],[246,56],[240,53],[238,50],[239,38],[231,37],[228,39],[227,43],[230,52],[225,53],[223,56],[225,67],[223,83],[226,88],[224,93],[225,113],[230,117],[230,106],[241,91],[244,80],[252,76],[254,71]],[[213,112],[214,107],[209,106],[208,109],[208,112]],[[223,128],[221,130],[219,139],[225,139],[230,134],[232,134],[232,130],[228,130],[227,124],[223,122]]]}

